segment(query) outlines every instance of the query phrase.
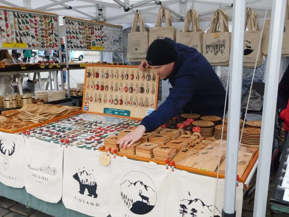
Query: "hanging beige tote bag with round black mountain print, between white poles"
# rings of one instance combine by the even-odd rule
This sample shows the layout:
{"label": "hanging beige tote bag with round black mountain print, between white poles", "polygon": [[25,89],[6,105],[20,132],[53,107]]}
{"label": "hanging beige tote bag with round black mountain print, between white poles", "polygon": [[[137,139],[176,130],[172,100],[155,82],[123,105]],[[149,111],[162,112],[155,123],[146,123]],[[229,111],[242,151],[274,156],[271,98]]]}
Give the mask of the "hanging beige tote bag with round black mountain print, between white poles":
{"label": "hanging beige tote bag with round black mountain print, between white poles", "polygon": [[[263,63],[262,56],[262,43],[258,54],[258,47],[260,40],[262,40],[262,32],[259,31],[257,14],[252,8],[246,8],[246,23],[245,30],[248,27],[249,31],[245,31],[244,35],[244,58],[243,66],[247,68],[254,68],[257,60],[257,66],[259,67]],[[258,54],[258,56],[257,56]]]}

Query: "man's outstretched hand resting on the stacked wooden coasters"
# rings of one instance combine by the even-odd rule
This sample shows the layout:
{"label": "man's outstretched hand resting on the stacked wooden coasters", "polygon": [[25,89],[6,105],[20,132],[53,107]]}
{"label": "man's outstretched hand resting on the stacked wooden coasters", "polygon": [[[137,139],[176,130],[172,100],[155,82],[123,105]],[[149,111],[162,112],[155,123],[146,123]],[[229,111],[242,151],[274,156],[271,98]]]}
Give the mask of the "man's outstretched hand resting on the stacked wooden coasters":
{"label": "man's outstretched hand resting on the stacked wooden coasters", "polygon": [[143,136],[144,132],[145,127],[143,125],[138,126],[135,130],[131,131],[117,141],[119,148],[123,147],[125,149],[126,147],[130,147]]}

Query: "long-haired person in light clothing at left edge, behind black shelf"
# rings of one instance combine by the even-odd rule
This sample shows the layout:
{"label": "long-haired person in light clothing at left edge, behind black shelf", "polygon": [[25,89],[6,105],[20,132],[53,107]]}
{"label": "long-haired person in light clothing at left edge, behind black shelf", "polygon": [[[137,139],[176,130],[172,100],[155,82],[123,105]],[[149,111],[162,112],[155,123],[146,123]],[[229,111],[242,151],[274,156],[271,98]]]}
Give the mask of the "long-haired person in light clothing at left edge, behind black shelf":
{"label": "long-haired person in light clothing at left edge, behind black shelf", "polygon": [[[0,62],[5,62],[6,64],[13,64],[14,60],[8,50],[0,51]],[[6,93],[14,93],[12,82],[12,76],[10,75],[1,75],[0,76],[0,95],[5,96]]]}

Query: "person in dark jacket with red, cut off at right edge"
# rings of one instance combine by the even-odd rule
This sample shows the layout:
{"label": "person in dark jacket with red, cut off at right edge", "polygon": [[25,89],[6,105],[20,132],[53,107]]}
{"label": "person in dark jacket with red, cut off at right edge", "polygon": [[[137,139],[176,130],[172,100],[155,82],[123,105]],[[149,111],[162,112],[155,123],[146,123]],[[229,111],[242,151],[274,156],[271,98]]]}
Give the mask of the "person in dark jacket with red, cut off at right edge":
{"label": "person in dark jacket with red, cut off at right edge", "polygon": [[289,66],[287,67],[278,86],[277,112],[282,119],[286,136],[289,131]]}

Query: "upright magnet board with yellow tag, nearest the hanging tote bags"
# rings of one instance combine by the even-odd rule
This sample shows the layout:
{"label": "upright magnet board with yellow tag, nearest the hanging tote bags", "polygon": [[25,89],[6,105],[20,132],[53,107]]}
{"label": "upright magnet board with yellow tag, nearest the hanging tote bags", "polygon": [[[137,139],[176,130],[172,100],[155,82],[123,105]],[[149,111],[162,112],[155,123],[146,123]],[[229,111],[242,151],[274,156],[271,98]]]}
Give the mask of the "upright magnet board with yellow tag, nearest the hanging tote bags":
{"label": "upright magnet board with yellow tag, nearest the hanging tote bags", "polygon": [[123,27],[73,17],[63,18],[67,49],[123,52]]}

